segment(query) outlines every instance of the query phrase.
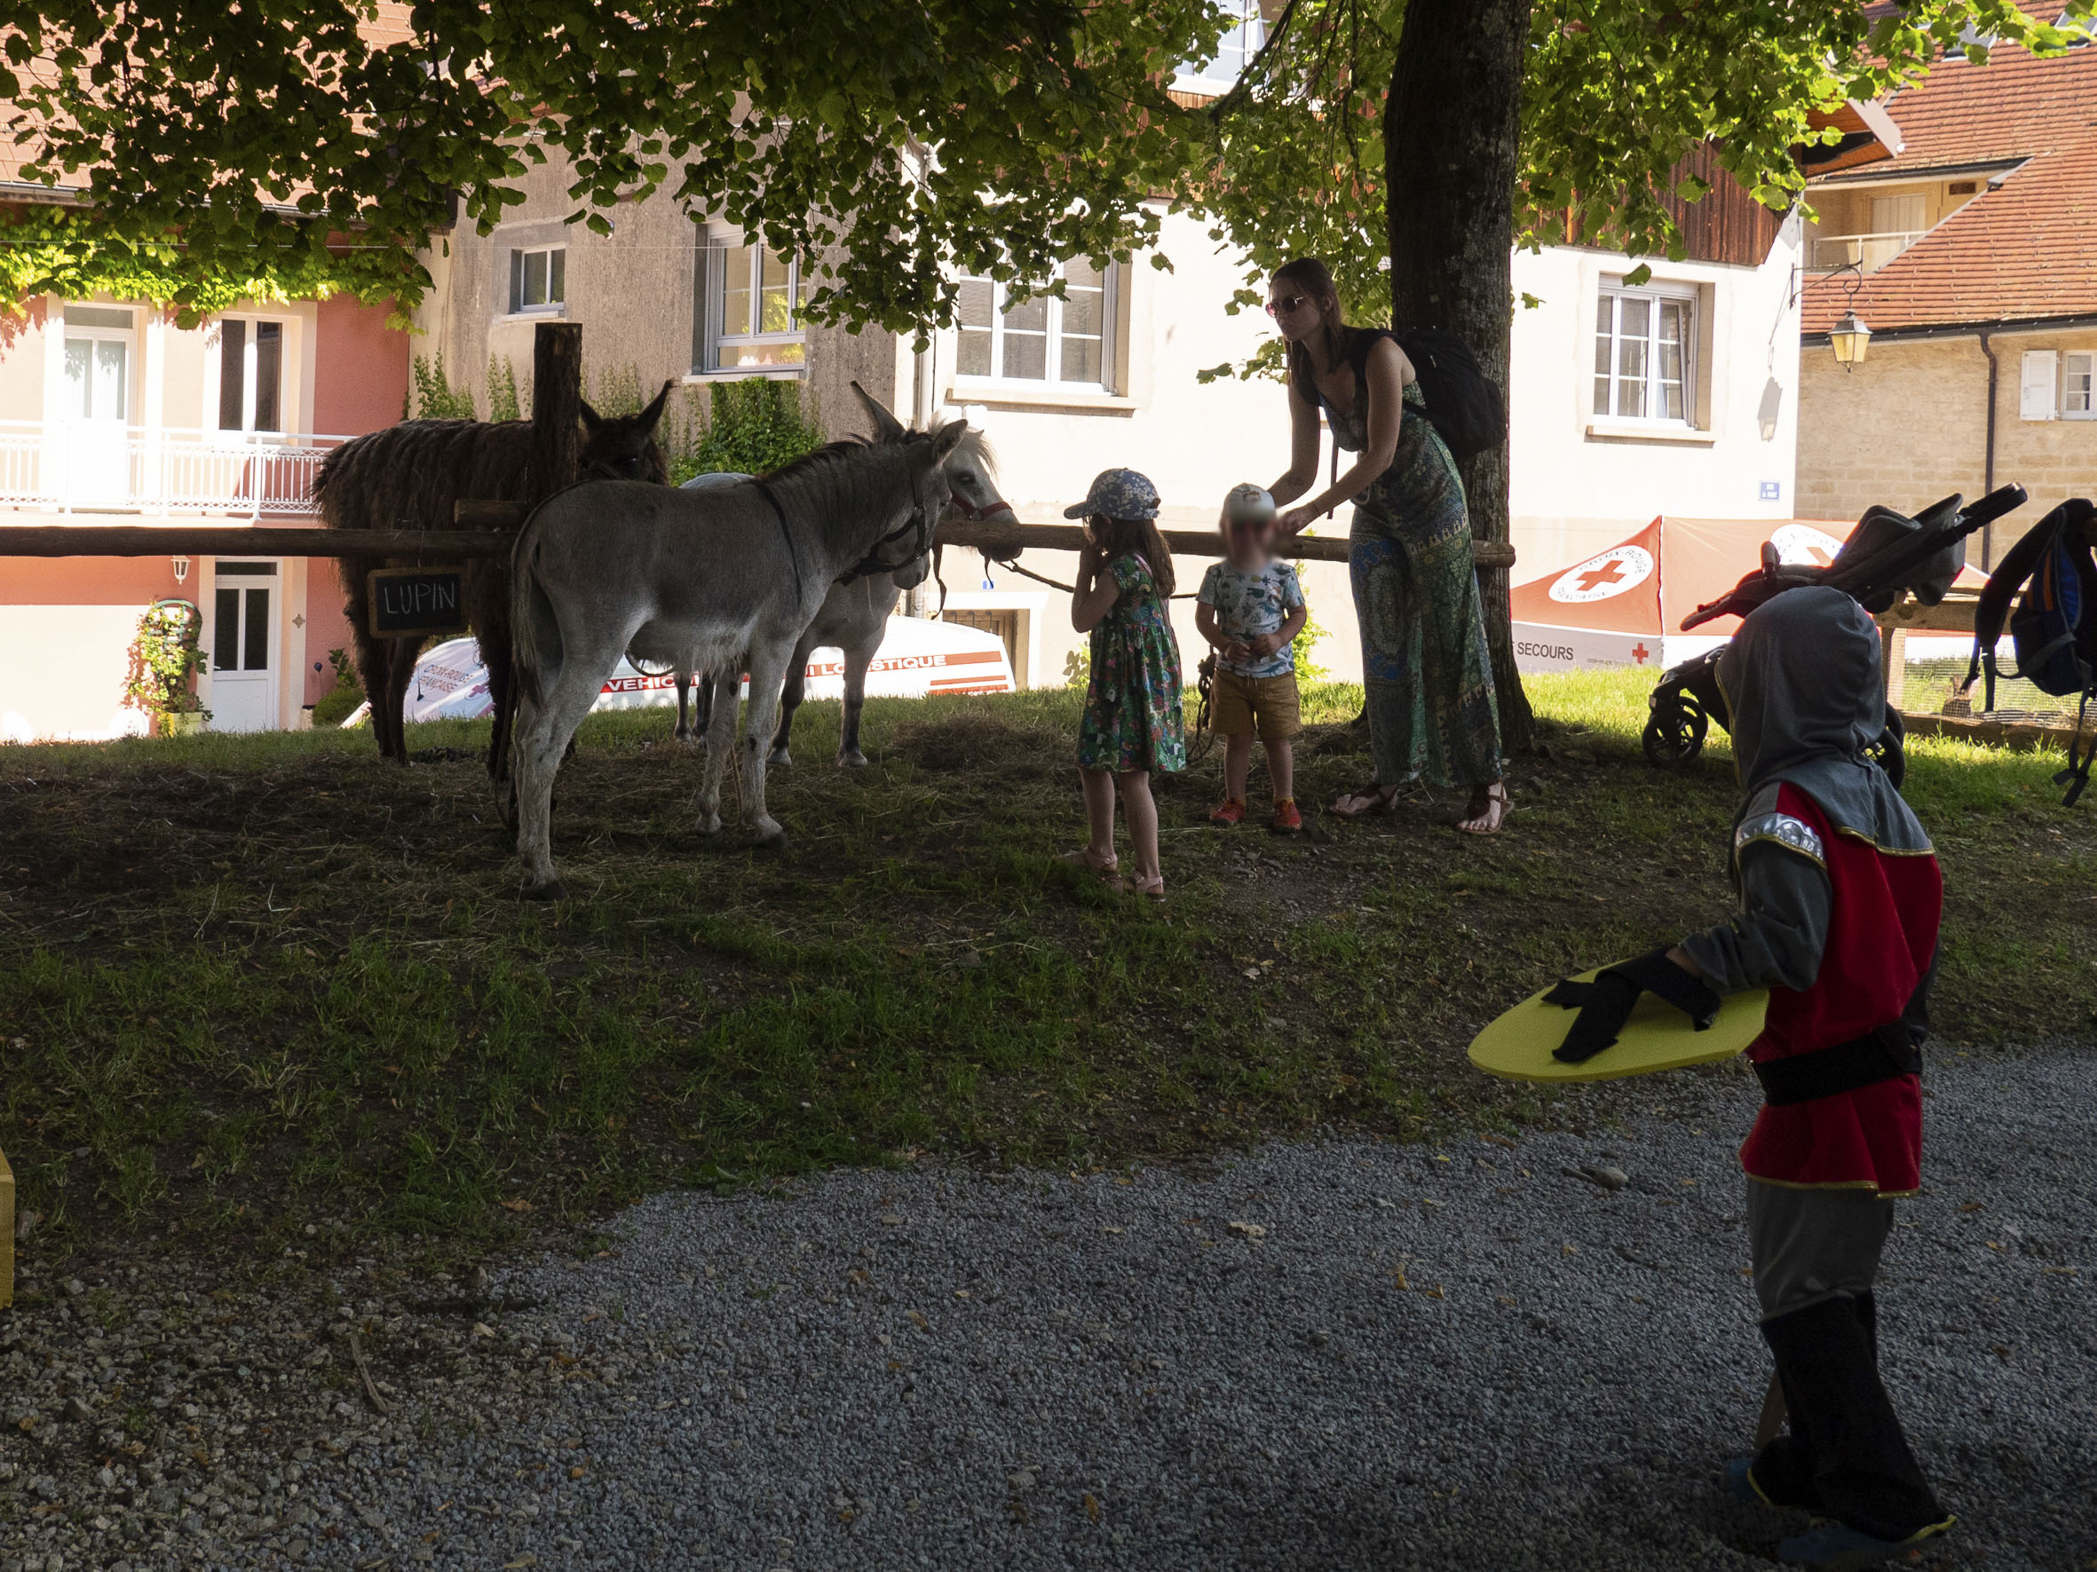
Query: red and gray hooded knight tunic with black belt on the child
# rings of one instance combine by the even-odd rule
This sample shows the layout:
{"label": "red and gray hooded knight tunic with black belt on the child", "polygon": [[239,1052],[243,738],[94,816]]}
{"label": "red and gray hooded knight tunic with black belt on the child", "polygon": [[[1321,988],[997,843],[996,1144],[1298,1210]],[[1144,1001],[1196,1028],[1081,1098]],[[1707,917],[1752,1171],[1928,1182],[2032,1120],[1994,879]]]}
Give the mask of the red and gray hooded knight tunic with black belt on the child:
{"label": "red and gray hooded knight tunic with black belt on the child", "polygon": [[[1826,639],[1785,639],[1785,608],[1822,623],[1839,591],[1795,589],[1757,612],[1766,637],[1736,639],[1720,664],[1734,702],[1734,750],[1751,790],[1734,828],[1741,914],[1682,947],[1720,994],[1770,989],[1747,1056],[1768,1105],[1741,1147],[1772,1184],[1910,1195],[1921,1184],[1917,1069],[1936,975],[1944,880],[1923,826],[1858,738],[1877,738],[1875,681],[1829,669]],[[1837,646],[1877,669],[1856,602]],[[1745,631],[1745,629],[1743,629]],[[1768,637],[1768,635],[1776,637]],[[1789,648],[1787,648],[1789,646]],[[1812,658],[1808,658],[1812,650]],[[1736,658],[1738,656],[1738,658]],[[1839,662],[1837,662],[1839,664]],[[1868,711],[1856,694],[1868,694]]]}

